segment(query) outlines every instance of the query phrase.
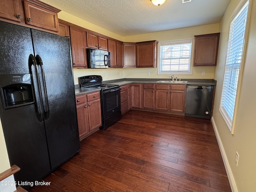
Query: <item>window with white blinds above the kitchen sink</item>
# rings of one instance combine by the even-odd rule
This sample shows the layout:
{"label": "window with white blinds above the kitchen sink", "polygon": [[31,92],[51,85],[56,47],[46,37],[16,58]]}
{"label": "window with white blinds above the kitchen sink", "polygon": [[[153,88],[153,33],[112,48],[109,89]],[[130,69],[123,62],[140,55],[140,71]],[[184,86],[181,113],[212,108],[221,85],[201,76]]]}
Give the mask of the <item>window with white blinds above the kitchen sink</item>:
{"label": "window with white blinds above the kitchen sink", "polygon": [[192,74],[193,39],[159,42],[158,74]]}

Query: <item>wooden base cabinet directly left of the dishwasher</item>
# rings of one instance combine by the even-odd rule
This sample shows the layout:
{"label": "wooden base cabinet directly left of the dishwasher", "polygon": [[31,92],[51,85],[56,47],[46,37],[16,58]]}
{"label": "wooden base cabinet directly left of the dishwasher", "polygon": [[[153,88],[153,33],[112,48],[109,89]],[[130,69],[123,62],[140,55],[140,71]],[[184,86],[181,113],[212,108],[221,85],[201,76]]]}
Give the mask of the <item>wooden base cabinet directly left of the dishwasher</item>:
{"label": "wooden base cabinet directly left of the dishwasher", "polygon": [[186,85],[171,85],[170,111],[185,111]]}

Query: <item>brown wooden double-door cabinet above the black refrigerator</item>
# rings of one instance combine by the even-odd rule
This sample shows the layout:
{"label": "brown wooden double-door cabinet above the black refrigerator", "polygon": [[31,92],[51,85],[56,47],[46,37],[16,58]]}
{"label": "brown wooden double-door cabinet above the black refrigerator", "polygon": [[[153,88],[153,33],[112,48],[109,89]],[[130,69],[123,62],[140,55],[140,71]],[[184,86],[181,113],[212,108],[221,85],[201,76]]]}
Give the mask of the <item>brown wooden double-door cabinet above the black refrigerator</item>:
{"label": "brown wooden double-door cabinet above the black refrigerator", "polygon": [[[0,18],[22,26],[58,32],[58,12],[39,0],[1,0]],[[2,20],[1,19],[1,20]]]}

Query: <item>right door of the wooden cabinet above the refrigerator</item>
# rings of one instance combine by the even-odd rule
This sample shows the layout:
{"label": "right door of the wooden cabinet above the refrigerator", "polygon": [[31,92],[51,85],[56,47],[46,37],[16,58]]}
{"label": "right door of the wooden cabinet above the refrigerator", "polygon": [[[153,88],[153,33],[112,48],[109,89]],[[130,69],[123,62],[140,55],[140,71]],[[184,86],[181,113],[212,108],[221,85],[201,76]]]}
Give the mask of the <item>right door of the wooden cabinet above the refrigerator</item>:
{"label": "right door of the wooden cabinet above the refrigerator", "polygon": [[24,0],[26,24],[58,32],[58,12],[60,10],[42,4],[37,0]]}

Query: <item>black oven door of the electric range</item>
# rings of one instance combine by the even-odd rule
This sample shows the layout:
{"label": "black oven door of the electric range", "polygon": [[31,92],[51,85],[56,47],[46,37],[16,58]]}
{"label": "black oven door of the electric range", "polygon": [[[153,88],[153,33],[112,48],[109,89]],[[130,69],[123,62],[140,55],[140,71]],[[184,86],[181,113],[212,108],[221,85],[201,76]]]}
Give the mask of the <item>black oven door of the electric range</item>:
{"label": "black oven door of the electric range", "polygon": [[115,88],[102,92],[102,116],[103,119],[115,114],[121,110],[120,102],[121,88]]}

